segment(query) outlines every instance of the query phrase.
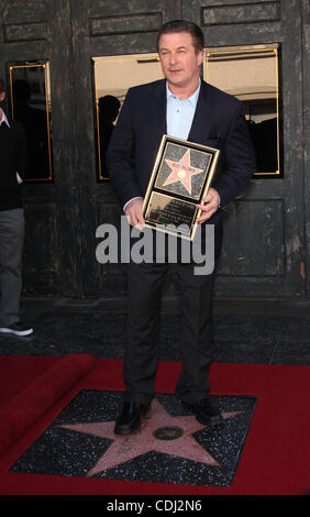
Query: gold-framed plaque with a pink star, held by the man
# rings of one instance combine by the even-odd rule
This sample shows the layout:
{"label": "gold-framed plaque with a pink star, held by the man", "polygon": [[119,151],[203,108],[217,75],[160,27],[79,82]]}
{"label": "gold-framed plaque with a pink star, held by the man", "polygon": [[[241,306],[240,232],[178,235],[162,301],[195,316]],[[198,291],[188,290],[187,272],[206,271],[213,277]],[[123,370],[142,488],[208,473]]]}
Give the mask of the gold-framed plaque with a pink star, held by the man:
{"label": "gold-framed plaque with a pink star, held by the man", "polygon": [[143,202],[145,226],[192,240],[220,151],[163,135]]}

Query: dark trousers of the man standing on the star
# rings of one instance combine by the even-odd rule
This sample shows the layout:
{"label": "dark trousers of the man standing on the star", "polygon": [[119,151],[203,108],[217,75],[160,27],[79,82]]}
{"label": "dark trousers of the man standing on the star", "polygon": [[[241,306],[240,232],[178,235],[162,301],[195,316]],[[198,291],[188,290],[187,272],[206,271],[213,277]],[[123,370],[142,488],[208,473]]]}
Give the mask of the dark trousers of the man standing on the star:
{"label": "dark trousers of the man standing on the star", "polygon": [[[169,264],[128,266],[129,320],[124,354],[126,397],[147,404],[155,394],[162,288]],[[191,404],[210,391],[208,370],[213,351],[213,275],[193,274],[191,264],[174,264],[180,286],[182,372],[176,395]]]}

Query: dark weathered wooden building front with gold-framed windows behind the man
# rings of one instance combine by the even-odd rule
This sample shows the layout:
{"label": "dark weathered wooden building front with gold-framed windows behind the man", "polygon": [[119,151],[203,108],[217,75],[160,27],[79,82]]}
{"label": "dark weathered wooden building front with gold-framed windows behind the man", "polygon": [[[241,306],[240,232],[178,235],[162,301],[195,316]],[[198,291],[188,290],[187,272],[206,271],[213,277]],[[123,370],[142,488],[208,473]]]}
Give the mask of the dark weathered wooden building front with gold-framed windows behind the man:
{"label": "dark weathered wooden building front with gold-framed windows behind the man", "polygon": [[[248,122],[264,128],[262,168],[225,210],[217,295],[309,298],[308,0],[2,0],[1,8],[7,109],[34,124],[25,122],[34,160],[24,185],[25,293],[125,292],[123,265],[96,258],[97,228],[119,227],[121,215],[104,173],[100,98],[121,103],[130,86],[160,78],[158,29],[186,19],[204,33],[203,77],[240,97]],[[269,147],[275,162],[264,165]]]}

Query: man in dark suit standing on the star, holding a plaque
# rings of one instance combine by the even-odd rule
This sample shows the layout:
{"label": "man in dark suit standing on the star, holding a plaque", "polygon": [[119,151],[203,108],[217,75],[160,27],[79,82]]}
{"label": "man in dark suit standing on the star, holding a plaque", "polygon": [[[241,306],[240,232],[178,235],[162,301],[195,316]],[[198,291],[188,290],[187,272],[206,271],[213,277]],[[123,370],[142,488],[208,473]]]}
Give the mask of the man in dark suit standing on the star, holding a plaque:
{"label": "man in dark suit standing on the star, holding a plaque", "polygon": [[[131,88],[108,152],[110,177],[132,227],[143,228],[145,195],[163,134],[221,150],[212,188],[200,206],[200,224],[214,224],[221,245],[221,208],[239,195],[255,170],[242,103],[200,79],[203,34],[190,22],[165,24],[158,54],[166,79]],[[124,405],[115,433],[133,432],[155,393],[160,292],[168,263],[129,264],[129,324],[124,354]],[[175,264],[181,299],[182,372],[176,395],[206,425],[221,422],[210,403],[213,275],[196,275],[193,264]]]}

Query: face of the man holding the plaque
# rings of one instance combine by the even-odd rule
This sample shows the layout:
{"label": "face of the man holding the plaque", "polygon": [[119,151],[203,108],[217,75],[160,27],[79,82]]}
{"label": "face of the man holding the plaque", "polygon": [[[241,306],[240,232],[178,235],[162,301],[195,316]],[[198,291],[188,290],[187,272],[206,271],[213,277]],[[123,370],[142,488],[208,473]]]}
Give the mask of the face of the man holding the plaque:
{"label": "face of the man holding the plaque", "polygon": [[191,34],[176,32],[163,34],[158,54],[164,75],[175,89],[191,89],[198,86],[202,51],[196,51]]}

